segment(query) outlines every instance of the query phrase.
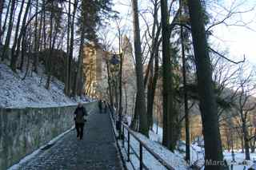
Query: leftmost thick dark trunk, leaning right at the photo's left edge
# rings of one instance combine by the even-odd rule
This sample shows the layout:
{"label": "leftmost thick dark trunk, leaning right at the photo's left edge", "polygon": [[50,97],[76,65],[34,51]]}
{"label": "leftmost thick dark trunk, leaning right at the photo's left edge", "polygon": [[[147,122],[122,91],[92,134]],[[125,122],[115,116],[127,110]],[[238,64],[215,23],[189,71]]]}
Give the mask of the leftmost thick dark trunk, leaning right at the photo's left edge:
{"label": "leftmost thick dark trunk, leaning right at the photo's left edge", "polygon": [[8,27],[7,34],[6,34],[6,41],[5,41],[5,44],[2,49],[2,60],[4,60],[5,58],[8,58],[8,57],[6,57],[6,55],[7,55],[7,50],[9,49],[11,32],[13,30],[13,25],[14,25],[13,18],[14,18],[15,4],[16,4],[16,0],[12,0],[11,7],[10,7],[9,27]]}

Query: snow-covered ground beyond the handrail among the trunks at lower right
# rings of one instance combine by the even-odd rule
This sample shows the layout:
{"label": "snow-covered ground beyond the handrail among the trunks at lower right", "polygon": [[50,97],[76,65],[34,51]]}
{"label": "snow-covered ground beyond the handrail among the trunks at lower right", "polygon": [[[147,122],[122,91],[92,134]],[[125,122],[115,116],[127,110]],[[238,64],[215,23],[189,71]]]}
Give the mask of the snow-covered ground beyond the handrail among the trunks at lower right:
{"label": "snow-covered ground beyond the handrail among the trunks at lower right", "polygon": [[[128,124],[131,122],[130,117],[126,117],[126,121]],[[166,148],[164,148],[161,145],[162,142],[162,127],[159,127],[154,124],[153,131],[150,131],[150,139],[147,139],[145,136],[142,136],[139,133],[136,133],[137,136],[143,140],[147,145],[150,146],[154,150],[154,152],[157,152],[159,156],[162,158],[165,158],[166,162],[173,164],[173,162],[180,162],[180,167],[177,166],[177,164],[173,164],[174,168],[176,169],[184,169],[182,165],[186,165],[186,162],[184,160],[185,153],[186,153],[186,144],[185,141],[179,141],[178,142],[178,149],[173,152],[170,152]],[[136,141],[134,141],[131,138],[132,145],[138,150],[138,144],[136,144]],[[137,142],[138,143],[138,142]],[[122,143],[120,142],[122,145]],[[197,164],[198,167],[201,167],[203,169],[204,164],[204,148],[201,147],[203,145],[203,139],[199,138],[199,140],[194,141],[190,145],[190,160],[191,164]],[[125,145],[126,146],[126,145]],[[126,146],[127,148],[127,146]],[[122,151],[124,152],[124,151]],[[124,154],[126,154],[124,152]],[[235,162],[232,162],[232,154],[231,152],[224,151],[223,152],[224,159],[226,160],[229,167],[231,164],[233,164],[234,170],[247,170],[248,168],[252,168],[254,166],[254,169],[256,170],[256,153],[250,153],[250,159],[245,161],[245,153],[242,153],[242,150],[234,150],[234,160]],[[133,158],[132,159],[135,164],[138,166],[138,159]],[[150,169],[162,169],[161,166],[159,166],[159,163],[154,160],[152,156],[149,154],[146,154],[145,158],[146,164],[150,164]],[[159,167],[158,167],[159,166]],[[164,169],[164,168],[163,168]],[[230,168],[231,169],[231,168]]]}

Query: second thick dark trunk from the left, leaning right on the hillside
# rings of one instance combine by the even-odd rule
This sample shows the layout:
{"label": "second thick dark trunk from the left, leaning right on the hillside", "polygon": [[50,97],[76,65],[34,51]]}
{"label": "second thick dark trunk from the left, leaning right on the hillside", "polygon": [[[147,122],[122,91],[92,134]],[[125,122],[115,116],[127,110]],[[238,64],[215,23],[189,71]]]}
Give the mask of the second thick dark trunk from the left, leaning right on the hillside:
{"label": "second thick dark trunk from the left, leaning right on the hillside", "polygon": [[[18,21],[17,21],[17,26],[16,26],[16,30],[15,30],[15,35],[14,35],[14,45],[11,49],[11,59],[10,59],[10,68],[16,72],[16,68],[17,68],[17,57],[15,57],[16,53],[15,53],[15,49],[17,46],[17,41],[18,41],[18,31],[19,31],[19,24],[21,22],[21,18],[22,18],[22,10],[23,10],[23,6],[24,6],[24,2],[25,0],[22,0],[22,5],[18,14]],[[19,48],[19,47],[18,47]]]}

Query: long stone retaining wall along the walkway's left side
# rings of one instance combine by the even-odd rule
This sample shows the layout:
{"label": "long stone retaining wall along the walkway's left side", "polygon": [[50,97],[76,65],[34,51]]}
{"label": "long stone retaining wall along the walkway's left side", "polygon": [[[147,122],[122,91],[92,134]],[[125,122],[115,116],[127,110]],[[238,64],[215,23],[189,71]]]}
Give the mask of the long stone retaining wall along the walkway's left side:
{"label": "long stone retaining wall along the walkway's left side", "polygon": [[[98,102],[85,104],[96,111]],[[76,106],[0,109],[0,170],[4,170],[47,144],[74,125]]]}

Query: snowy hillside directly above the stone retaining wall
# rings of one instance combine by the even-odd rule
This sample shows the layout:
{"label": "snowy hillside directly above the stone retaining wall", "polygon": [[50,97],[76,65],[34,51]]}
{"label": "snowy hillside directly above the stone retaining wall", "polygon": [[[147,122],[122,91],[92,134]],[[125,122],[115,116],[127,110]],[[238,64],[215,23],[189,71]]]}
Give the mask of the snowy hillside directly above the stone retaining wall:
{"label": "snowy hillside directly above the stone retaining wall", "polygon": [[[42,69],[42,67],[40,68]],[[54,107],[76,105],[78,101],[90,101],[87,97],[71,99],[63,93],[64,84],[52,78],[50,89],[45,88],[46,75],[42,73],[14,73],[10,67],[0,64],[0,108]]]}

